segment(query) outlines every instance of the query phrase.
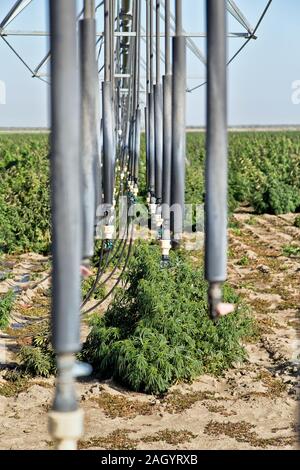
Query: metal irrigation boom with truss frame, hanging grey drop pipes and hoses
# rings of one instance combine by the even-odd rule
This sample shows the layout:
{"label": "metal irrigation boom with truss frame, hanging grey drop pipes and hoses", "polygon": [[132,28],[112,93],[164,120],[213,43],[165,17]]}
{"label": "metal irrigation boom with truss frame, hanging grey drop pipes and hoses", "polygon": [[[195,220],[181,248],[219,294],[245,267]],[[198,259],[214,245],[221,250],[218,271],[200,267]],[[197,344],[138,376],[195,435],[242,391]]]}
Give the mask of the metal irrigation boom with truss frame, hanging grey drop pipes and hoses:
{"label": "metal irrigation boom with truss frame, hanging grey drop pipes and hoses", "polygon": [[[175,8],[170,0],[83,0],[80,11],[75,0],[49,0],[49,32],[8,30],[30,4],[31,0],[15,2],[0,23],[0,36],[33,77],[47,82],[51,78],[52,343],[57,384],[49,429],[57,448],[74,449],[83,429],[74,379],[90,371],[75,362],[80,350],[80,316],[99,307],[114,292],[132,255],[130,210],[140,185],[142,120],[150,227],[154,224],[160,239],[162,265],[168,266],[170,250],[181,246],[184,234],[186,91],[206,83],[209,313],[215,320],[231,311],[222,301],[227,277],[227,65],[256,39],[271,1],[252,28],[233,0],[206,0],[207,33],[188,33],[182,0],[175,0]],[[244,31],[227,31],[227,13]],[[103,31],[99,31],[100,18]],[[34,69],[9,42],[10,36],[22,35],[50,35],[51,50]],[[206,35],[205,56],[192,37]],[[230,37],[245,43],[228,62]],[[207,82],[188,90],[187,52],[207,66]],[[42,72],[49,61],[50,75]],[[116,224],[122,198],[129,205],[125,230]],[[119,236],[118,243],[115,236]],[[81,275],[90,274],[95,255],[97,273],[82,302]],[[103,279],[112,261],[115,267]],[[114,276],[106,296],[82,312],[95,289]]]}

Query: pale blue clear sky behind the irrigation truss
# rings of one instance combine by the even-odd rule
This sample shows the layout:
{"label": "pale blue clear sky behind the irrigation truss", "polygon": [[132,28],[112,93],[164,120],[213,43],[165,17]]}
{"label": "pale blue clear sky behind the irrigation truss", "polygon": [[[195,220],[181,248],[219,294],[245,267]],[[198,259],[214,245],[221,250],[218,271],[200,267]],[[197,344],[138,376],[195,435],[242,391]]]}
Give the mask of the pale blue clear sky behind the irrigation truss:
{"label": "pale blue clear sky behind the irrigation truss", "polygon": [[[0,0],[1,20],[14,2]],[[47,4],[47,0],[33,0],[7,29],[48,30]],[[236,4],[255,26],[267,0],[236,0]],[[204,32],[204,1],[183,0],[183,5],[185,30]],[[100,11],[98,16],[101,31]],[[251,41],[229,67],[229,125],[300,125],[300,104],[292,100],[293,83],[297,86],[300,80],[299,22],[299,0],[273,0],[257,32],[258,39]],[[230,17],[228,28],[230,32],[243,31]],[[9,40],[31,68],[37,66],[49,47],[47,38],[10,37]],[[195,39],[195,42],[205,53],[205,40]],[[229,40],[229,57],[242,43],[236,38]],[[203,64],[190,52],[187,62],[188,87],[202,83],[206,73]],[[6,104],[0,104],[0,127],[49,126],[49,85],[33,79],[1,38],[0,64],[0,102],[4,87],[6,95]],[[205,125],[205,87],[187,94],[187,124]]]}

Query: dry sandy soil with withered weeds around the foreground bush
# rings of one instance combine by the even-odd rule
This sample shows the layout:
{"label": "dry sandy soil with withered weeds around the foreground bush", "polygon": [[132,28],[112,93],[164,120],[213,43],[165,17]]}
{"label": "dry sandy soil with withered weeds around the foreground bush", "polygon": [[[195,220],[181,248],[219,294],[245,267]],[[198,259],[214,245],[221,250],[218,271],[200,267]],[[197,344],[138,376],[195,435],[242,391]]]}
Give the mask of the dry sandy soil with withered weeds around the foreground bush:
{"label": "dry sandy soil with withered weeds around the foreground bush", "polygon": [[[219,378],[205,375],[176,385],[162,399],[111,381],[81,381],[81,449],[297,448],[300,256],[291,246],[300,245],[300,230],[294,217],[241,211],[230,230],[229,282],[249,304],[259,329],[257,341],[246,345],[248,360]],[[42,295],[49,263],[37,255],[7,257],[0,265],[5,269],[10,276],[0,282],[0,292],[14,287],[22,293],[11,328],[0,338],[0,448],[51,449],[47,410],[53,379],[11,386],[4,378],[17,362],[20,342],[26,342],[10,335],[49,308]]]}

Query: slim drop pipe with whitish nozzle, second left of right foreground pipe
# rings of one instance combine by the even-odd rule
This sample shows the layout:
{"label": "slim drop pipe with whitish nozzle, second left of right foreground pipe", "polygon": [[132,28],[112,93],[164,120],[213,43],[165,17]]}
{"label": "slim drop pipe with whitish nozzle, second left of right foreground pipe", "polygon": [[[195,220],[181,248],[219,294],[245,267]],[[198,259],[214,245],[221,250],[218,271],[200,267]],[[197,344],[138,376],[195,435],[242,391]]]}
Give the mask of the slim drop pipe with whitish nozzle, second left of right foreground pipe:
{"label": "slim drop pipe with whitish nozzle, second left of right foreground pipe", "polygon": [[171,247],[170,205],[172,164],[172,67],[171,67],[171,5],[165,1],[165,75],[163,77],[163,183],[162,183],[162,256],[168,261]]}

